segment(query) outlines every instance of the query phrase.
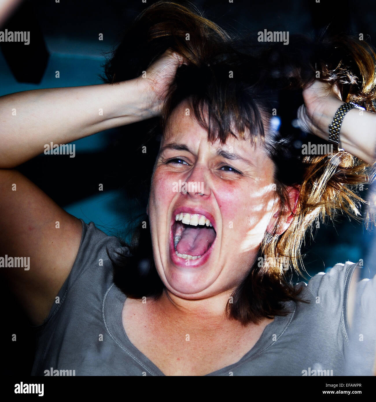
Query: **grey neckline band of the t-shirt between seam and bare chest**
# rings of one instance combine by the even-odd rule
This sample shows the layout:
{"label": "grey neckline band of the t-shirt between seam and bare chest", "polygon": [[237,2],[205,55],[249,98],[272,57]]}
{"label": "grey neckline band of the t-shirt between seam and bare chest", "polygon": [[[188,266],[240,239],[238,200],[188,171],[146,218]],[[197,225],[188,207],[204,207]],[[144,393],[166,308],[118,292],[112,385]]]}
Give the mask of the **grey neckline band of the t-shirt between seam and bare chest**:
{"label": "grey neckline band of the t-shirt between seam and bare chest", "polygon": [[[124,353],[127,353],[127,355],[134,359],[145,369],[146,372],[151,375],[163,376],[165,374],[150,359],[148,359],[144,353],[131,343],[124,330],[121,317],[126,298],[125,294],[114,283],[109,287],[109,289],[107,289],[102,302],[102,318],[107,332]],[[287,316],[275,316],[274,320],[265,327],[253,348],[239,361],[205,375],[214,376],[228,373],[237,366],[243,364],[245,361],[255,358],[272,347],[278,338],[284,333],[295,314],[296,304],[294,301],[286,302],[285,306],[291,312]]]}

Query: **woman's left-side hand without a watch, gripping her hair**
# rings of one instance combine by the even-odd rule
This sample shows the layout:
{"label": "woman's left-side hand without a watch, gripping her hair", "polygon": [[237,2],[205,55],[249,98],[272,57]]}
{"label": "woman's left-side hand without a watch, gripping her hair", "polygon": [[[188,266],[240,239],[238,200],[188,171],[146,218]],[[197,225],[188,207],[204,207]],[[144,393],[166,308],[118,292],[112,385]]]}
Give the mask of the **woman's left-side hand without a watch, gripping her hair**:
{"label": "woman's left-side hand without a watch, gripping her hair", "polygon": [[147,70],[137,78],[146,94],[146,105],[152,116],[158,116],[167,90],[173,82],[176,70],[184,63],[179,53],[167,49]]}

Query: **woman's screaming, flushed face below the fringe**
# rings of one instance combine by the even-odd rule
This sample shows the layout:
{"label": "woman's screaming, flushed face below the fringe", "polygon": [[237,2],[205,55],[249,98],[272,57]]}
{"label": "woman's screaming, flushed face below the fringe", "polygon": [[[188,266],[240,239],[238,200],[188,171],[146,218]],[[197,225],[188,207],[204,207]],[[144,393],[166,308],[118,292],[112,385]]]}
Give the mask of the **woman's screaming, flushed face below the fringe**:
{"label": "woman's screaming, flushed face below the fringe", "polygon": [[208,142],[187,107],[181,104],[169,119],[148,215],[164,285],[179,297],[199,299],[239,285],[278,208],[274,166],[264,149],[232,136],[225,145]]}

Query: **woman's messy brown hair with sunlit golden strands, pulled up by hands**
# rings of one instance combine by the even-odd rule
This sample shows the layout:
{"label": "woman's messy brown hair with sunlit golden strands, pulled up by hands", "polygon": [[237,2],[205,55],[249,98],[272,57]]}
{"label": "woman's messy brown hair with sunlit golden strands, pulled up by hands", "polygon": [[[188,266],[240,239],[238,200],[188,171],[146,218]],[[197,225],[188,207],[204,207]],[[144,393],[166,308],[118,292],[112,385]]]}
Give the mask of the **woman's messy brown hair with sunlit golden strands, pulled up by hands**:
{"label": "woman's messy brown hair with sunlit golden strands, pulled up by hands", "polygon": [[[131,44],[127,38],[138,40]],[[372,46],[344,34],[315,39],[291,35],[288,46],[260,46],[252,35],[230,35],[189,2],[160,1],[140,14],[111,54],[104,81],[139,76],[166,49],[180,53],[186,64],[177,70],[152,134],[163,135],[175,108],[187,101],[197,122],[208,131],[209,141],[224,144],[234,136],[249,140],[250,146],[261,142],[275,165],[280,214],[274,230],[265,233],[259,256],[287,257],[291,268],[301,273],[300,250],[307,230],[318,219],[334,219],[338,212],[358,219],[364,200],[356,189],[368,183],[372,171],[343,151],[331,157],[302,155],[301,145],[307,139],[328,143],[304,135],[291,121],[303,103],[302,90],[318,76],[337,85],[344,102],[353,101],[375,112]],[[296,205],[290,205],[291,187],[299,191]],[[292,212],[290,226],[278,235],[283,217]],[[150,230],[139,226],[126,245],[129,253],[112,257],[115,282],[129,297],[160,297],[164,285],[154,265]],[[267,262],[260,267],[257,260],[232,294],[233,303],[226,307],[228,317],[242,324],[286,315],[282,302],[303,301],[298,296],[301,288],[288,283],[286,267]]]}

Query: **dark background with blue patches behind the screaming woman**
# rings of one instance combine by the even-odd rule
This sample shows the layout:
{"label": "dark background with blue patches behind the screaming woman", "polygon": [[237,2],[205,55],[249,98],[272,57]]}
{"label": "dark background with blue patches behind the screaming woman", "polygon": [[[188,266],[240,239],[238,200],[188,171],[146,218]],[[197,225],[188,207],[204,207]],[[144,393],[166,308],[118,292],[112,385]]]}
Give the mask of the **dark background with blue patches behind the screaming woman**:
{"label": "dark background with blue patches behind the screaming woman", "polygon": [[[99,0],[25,1],[0,27],[4,31],[30,31],[31,43],[0,43],[0,96],[36,88],[83,86],[102,83],[104,53],[121,39],[123,30],[153,1]],[[363,33],[375,45],[374,0],[325,1],[194,1],[207,18],[236,33],[289,31],[315,35],[327,28],[332,33]],[[99,41],[103,33],[103,41]],[[55,71],[60,78],[55,78]],[[69,116],[67,116],[69,118]],[[1,129],[1,127],[0,127]],[[75,141],[76,157],[41,155],[21,166],[21,171],[66,211],[95,222],[108,234],[123,234],[127,222],[143,208],[127,188],[133,173],[132,160],[137,150],[124,146],[119,136],[140,135],[137,127],[113,129]],[[0,144],[1,146],[1,144]],[[114,148],[117,153],[110,152]],[[121,161],[119,162],[119,160]],[[104,191],[98,191],[103,183]],[[366,195],[366,191],[364,191]],[[0,211],[1,213],[1,211]],[[304,248],[307,273],[304,281],[336,263],[364,259],[373,234],[364,225],[339,218],[335,227],[320,225],[315,240],[306,238]],[[367,276],[367,275],[366,275]],[[33,361],[33,334],[16,302],[2,285],[4,327],[1,331],[6,349],[4,374],[28,375]],[[12,342],[12,334],[17,341]]]}

